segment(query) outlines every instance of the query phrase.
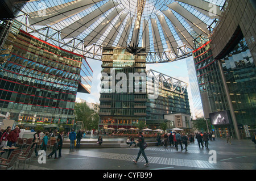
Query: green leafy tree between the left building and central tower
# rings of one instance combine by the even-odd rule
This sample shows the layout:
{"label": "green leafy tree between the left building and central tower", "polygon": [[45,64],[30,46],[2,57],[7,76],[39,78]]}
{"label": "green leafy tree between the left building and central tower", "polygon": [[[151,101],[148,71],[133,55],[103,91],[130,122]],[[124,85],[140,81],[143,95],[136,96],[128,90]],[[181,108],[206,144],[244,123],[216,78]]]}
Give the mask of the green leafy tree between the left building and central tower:
{"label": "green leafy tree between the left building and central tower", "polygon": [[75,103],[76,121],[82,121],[85,130],[98,128],[98,113],[90,109],[86,103]]}

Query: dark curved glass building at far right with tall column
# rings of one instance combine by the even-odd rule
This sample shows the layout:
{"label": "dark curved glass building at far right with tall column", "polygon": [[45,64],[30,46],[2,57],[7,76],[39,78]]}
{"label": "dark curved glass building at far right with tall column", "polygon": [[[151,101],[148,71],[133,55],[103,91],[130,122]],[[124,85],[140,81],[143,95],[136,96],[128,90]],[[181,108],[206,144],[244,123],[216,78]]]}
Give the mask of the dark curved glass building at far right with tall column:
{"label": "dark curved glass building at far right with tall column", "polygon": [[209,41],[193,50],[204,115],[219,137],[256,130],[255,10],[253,1],[227,1]]}

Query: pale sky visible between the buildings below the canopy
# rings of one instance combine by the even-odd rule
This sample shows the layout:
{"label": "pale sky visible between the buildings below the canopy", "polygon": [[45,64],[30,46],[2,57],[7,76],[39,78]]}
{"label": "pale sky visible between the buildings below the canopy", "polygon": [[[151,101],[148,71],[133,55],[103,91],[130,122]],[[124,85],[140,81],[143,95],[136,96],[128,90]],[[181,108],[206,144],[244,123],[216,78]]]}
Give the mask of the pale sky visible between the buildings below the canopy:
{"label": "pale sky visible between the buildings below the canopy", "polygon": [[[86,60],[88,61],[90,67],[93,70],[92,91],[90,94],[77,92],[77,98],[84,99],[90,103],[100,103],[100,77],[102,62],[90,58],[86,58]],[[146,69],[153,69],[159,71],[160,73],[179,79],[180,81],[189,83],[186,59],[168,63],[146,64]],[[190,94],[190,92],[191,91],[189,86],[188,94]]]}

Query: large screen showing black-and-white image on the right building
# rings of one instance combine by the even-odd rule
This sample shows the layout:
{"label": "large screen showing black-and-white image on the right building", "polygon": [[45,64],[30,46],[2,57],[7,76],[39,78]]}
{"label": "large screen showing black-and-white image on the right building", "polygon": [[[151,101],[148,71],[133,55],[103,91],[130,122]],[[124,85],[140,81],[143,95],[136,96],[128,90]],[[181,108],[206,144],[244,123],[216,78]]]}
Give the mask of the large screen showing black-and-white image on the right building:
{"label": "large screen showing black-and-white image on the right building", "polygon": [[219,124],[230,124],[231,117],[229,111],[219,111],[209,113],[210,121],[212,121],[212,125]]}

